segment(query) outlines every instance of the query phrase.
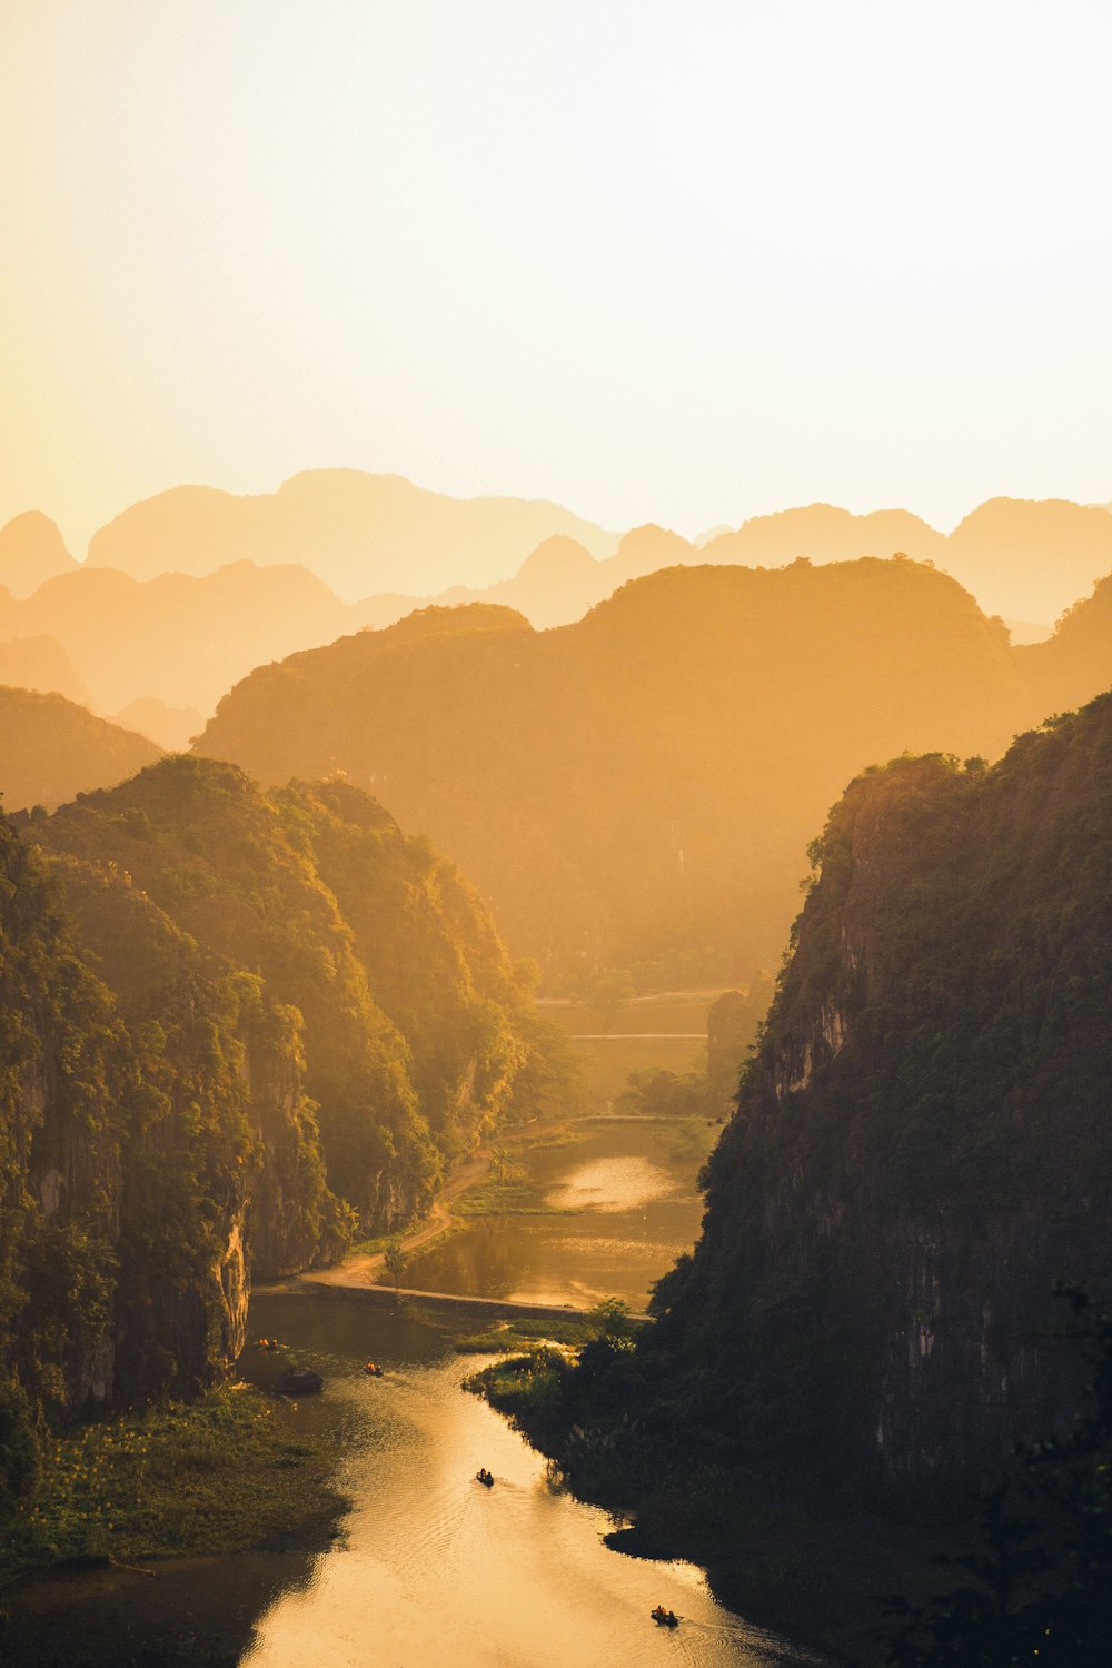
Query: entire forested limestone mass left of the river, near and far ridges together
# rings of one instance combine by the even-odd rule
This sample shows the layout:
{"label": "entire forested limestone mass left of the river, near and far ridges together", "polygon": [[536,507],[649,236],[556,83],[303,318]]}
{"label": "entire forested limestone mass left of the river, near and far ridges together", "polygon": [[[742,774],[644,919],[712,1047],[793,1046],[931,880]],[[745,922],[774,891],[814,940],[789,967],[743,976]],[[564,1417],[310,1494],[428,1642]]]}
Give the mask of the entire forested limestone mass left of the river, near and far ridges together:
{"label": "entire forested limestone mass left of the river, near and far ridges together", "polygon": [[178,757],[0,817],[0,1515],[43,1421],[218,1381],[252,1263],[395,1226],[560,1094],[528,972],[342,782]]}

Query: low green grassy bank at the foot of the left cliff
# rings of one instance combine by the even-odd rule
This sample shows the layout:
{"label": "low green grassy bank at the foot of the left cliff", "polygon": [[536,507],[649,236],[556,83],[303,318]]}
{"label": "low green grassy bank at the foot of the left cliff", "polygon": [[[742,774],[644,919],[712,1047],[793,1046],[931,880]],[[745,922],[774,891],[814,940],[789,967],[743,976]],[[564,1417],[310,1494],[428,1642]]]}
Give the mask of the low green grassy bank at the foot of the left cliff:
{"label": "low green grassy bank at the foot of the left cliff", "polygon": [[335,1456],[317,1408],[247,1384],[48,1438],[33,1498],[0,1531],[0,1575],[323,1545],[343,1505]]}

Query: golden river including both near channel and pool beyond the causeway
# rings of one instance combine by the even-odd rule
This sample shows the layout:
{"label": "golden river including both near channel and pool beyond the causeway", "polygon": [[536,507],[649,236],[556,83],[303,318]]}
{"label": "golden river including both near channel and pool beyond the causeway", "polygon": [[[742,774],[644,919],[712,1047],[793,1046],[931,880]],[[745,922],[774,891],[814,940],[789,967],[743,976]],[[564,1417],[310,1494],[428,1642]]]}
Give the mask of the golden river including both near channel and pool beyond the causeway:
{"label": "golden river including both near channel and pool beyond the causeway", "polygon": [[[695,1238],[699,1156],[677,1131],[599,1124],[530,1154],[525,1198],[552,1214],[480,1221],[413,1261],[407,1281],[535,1303],[600,1294],[640,1306]],[[533,1208],[538,1208],[533,1203]],[[569,1214],[565,1214],[569,1213]],[[457,1323],[458,1324],[458,1323]],[[343,1538],[258,1618],[242,1668],[770,1668],[819,1658],[720,1606],[702,1571],[610,1550],[607,1513],[462,1384],[435,1323],[358,1294],[262,1294],[252,1329],[325,1376],[347,1429]],[[383,1366],[367,1378],[363,1363]],[[475,1471],[487,1466],[485,1490]],[[650,1620],[664,1603],[675,1631]]]}

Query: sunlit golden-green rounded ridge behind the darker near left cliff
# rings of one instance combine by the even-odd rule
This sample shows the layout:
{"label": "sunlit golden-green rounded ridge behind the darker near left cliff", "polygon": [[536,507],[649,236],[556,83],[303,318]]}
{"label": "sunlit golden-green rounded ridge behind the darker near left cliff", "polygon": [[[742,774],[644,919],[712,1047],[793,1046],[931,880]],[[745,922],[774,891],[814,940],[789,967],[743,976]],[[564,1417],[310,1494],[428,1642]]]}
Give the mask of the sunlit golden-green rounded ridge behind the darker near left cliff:
{"label": "sunlit golden-green rounded ridge behind the darker near left cliff", "polygon": [[[367,1231],[427,1204],[510,1103],[533,1044],[485,911],[358,789],[295,784],[267,799],[232,766],[175,757],[30,832],[97,874],[123,872],[207,966],[262,977],[297,1011],[328,1184]],[[83,907],[90,896],[73,897],[82,934],[127,994],[113,912]]]}

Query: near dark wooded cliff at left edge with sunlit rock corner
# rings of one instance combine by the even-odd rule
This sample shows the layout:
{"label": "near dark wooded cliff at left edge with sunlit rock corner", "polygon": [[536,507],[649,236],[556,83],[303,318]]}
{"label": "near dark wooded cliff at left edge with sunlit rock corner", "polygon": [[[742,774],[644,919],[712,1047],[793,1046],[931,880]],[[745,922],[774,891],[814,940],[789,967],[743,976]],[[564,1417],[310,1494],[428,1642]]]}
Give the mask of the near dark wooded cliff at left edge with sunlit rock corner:
{"label": "near dark wooded cliff at left edge with sunlit rock corner", "polygon": [[[193,947],[155,924],[175,977],[148,992],[157,1022],[128,1029],[5,817],[0,882],[3,1500],[32,1409],[188,1394],[242,1348],[245,1029],[267,1016],[257,989],[200,976]],[[297,1061],[287,1039],[293,1079]]]}

